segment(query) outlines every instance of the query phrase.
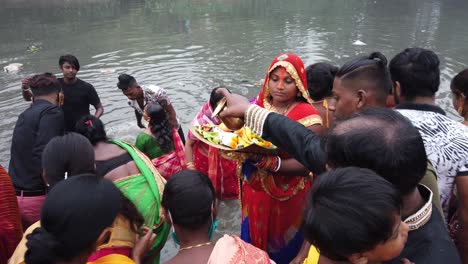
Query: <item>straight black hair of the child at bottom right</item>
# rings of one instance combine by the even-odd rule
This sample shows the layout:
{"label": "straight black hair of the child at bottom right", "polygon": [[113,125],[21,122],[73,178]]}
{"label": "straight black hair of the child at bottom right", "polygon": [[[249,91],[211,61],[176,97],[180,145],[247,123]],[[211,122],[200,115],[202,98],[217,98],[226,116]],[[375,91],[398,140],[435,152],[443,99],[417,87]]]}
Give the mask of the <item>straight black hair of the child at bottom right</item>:
{"label": "straight black hair of the child at bottom right", "polygon": [[400,194],[391,183],[356,167],[321,174],[308,199],[304,236],[320,255],[335,261],[388,241],[401,208]]}

